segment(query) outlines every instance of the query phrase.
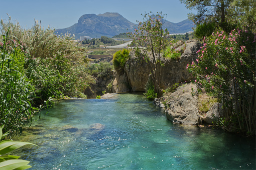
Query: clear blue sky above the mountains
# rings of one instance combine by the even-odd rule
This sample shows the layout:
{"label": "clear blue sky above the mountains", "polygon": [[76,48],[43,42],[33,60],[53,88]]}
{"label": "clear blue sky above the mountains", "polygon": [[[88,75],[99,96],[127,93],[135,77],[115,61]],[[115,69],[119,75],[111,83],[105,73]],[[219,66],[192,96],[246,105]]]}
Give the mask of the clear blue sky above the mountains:
{"label": "clear blue sky above the mountains", "polygon": [[171,22],[187,19],[187,13],[192,12],[179,0],[0,0],[0,4],[2,19],[8,19],[8,13],[26,28],[33,26],[34,19],[45,28],[65,28],[88,13],[118,12],[136,23],[145,11],[167,13]]}

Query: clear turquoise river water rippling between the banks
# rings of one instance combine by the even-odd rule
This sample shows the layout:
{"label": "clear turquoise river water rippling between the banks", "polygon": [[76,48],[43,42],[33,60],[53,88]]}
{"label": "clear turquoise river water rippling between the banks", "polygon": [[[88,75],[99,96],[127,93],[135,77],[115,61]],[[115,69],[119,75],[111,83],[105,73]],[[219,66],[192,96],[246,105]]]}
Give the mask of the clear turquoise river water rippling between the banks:
{"label": "clear turquoise river water rippling between the banks", "polygon": [[31,169],[255,169],[254,138],[173,124],[138,93],[65,100],[32,128],[39,147],[15,152]]}

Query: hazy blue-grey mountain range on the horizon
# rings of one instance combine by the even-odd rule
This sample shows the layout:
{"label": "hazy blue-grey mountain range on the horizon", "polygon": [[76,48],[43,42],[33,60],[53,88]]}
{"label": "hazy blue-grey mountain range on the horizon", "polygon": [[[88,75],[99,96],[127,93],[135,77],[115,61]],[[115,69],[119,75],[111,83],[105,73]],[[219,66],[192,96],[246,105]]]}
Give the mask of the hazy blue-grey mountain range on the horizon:
{"label": "hazy blue-grey mountain range on the horizon", "polygon": [[[103,14],[84,14],[78,22],[70,27],[63,29],[56,29],[57,34],[70,33],[75,34],[75,38],[80,36],[112,37],[119,33],[127,31],[133,31],[136,24],[125,19],[122,15],[116,12],[106,12]],[[166,27],[170,33],[185,33],[187,31],[193,31],[193,22],[189,19],[183,20],[179,23],[173,23],[168,20],[165,21],[164,27]]]}

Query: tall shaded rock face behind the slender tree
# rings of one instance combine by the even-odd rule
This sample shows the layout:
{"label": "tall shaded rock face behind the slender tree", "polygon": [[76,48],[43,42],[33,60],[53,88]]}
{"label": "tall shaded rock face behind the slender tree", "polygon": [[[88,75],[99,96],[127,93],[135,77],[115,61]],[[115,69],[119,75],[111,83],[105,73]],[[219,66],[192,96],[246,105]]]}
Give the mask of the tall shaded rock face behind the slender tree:
{"label": "tall shaded rock face behind the slender tree", "polygon": [[[161,61],[164,66],[161,67],[161,88],[168,88],[178,82],[189,81],[193,79],[191,73],[186,69],[187,64],[192,61],[196,61],[196,51],[200,48],[200,43],[196,41],[189,41],[183,45],[185,50],[179,59],[172,59],[161,57]],[[177,48],[178,49],[178,48]],[[130,52],[131,58],[127,60],[124,73],[116,73],[116,92],[127,92],[127,91],[145,91],[145,85],[148,82],[150,68],[148,64],[152,64],[152,61],[147,63],[145,60],[139,60],[135,56],[135,52]],[[125,74],[125,75],[124,75]],[[131,88],[129,88],[129,84]],[[113,91],[115,92],[115,91]]]}

